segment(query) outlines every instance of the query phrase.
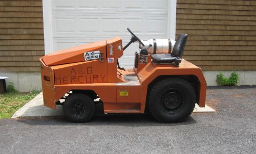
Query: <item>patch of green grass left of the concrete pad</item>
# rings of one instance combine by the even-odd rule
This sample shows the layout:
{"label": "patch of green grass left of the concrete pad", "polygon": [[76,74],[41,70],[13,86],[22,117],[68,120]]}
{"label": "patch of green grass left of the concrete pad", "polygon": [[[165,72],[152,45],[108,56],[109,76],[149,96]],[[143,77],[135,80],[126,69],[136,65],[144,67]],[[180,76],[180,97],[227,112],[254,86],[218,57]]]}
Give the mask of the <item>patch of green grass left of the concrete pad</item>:
{"label": "patch of green grass left of the concrete pad", "polygon": [[34,98],[40,91],[30,93],[4,93],[0,94],[0,119],[10,118],[19,108]]}

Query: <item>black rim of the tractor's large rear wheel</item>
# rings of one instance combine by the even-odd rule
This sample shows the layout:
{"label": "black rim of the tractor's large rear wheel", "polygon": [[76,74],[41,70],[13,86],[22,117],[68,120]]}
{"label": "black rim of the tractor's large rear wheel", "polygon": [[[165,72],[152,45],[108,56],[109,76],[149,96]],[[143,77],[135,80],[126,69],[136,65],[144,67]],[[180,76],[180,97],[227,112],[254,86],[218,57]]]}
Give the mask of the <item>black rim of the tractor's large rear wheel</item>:
{"label": "black rim of the tractor's large rear wheel", "polygon": [[161,96],[161,107],[166,112],[177,110],[182,105],[182,94],[175,89],[166,90]]}

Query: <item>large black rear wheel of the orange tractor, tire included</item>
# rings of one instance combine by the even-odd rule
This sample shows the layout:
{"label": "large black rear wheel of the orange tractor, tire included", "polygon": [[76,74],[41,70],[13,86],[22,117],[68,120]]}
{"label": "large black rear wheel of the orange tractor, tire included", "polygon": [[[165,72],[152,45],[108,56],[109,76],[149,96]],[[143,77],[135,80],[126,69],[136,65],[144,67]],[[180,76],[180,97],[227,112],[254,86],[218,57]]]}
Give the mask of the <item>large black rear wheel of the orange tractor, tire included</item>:
{"label": "large black rear wheel of the orange tractor, tire included", "polygon": [[148,108],[161,122],[179,122],[194,110],[196,93],[185,80],[167,78],[157,82],[150,90]]}

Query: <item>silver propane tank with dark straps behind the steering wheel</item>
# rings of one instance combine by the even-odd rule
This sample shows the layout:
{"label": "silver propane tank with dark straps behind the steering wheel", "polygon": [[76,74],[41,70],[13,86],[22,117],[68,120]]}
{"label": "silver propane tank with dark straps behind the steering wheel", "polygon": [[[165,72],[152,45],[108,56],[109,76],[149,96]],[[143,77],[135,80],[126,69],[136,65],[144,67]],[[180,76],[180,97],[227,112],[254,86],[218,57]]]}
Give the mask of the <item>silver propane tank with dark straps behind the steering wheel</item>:
{"label": "silver propane tank with dark straps behind the steering wheel", "polygon": [[175,41],[172,39],[141,40],[145,46],[139,44],[141,49],[146,49],[148,54],[170,54],[173,51]]}

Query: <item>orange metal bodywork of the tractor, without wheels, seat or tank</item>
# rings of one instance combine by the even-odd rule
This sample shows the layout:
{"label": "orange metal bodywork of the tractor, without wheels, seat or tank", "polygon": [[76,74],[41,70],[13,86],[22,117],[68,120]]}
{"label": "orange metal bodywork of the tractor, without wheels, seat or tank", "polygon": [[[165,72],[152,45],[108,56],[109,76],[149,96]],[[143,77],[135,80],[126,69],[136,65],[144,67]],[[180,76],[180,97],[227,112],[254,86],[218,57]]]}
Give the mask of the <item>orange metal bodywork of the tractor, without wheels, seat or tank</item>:
{"label": "orange metal bodywork of the tractor, without wheels, seat or tank", "polygon": [[[102,60],[84,59],[85,53],[96,50],[102,53]],[[55,102],[68,91],[93,90],[102,100],[105,113],[144,113],[147,87],[160,75],[197,76],[198,104],[205,105],[206,82],[202,70],[184,59],[179,67],[155,65],[149,55],[147,63],[138,64],[137,69],[120,70],[116,67],[116,60],[123,55],[120,37],[62,52],[40,59],[44,104],[49,108],[56,109]]]}

